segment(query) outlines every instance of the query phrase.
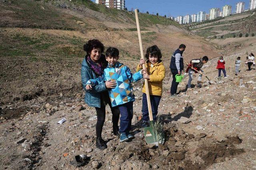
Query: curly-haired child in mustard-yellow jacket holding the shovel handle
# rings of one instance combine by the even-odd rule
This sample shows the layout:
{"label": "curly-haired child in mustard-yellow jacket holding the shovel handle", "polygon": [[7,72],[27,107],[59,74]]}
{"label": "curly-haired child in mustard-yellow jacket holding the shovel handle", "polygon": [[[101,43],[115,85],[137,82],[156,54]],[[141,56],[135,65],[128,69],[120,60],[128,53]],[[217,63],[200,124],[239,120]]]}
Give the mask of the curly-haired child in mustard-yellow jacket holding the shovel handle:
{"label": "curly-haired child in mustard-yellow jacket holding the shovel handle", "polygon": [[[162,58],[161,51],[156,45],[147,49],[145,57],[147,61],[141,59],[136,71],[142,70],[142,64],[146,64],[147,72],[143,74],[143,78],[148,79],[152,114],[153,119],[156,120],[158,105],[162,96],[162,82],[165,76],[165,68],[162,60],[160,60]],[[142,92],[142,127],[147,127],[149,126],[149,116],[145,83],[143,84]]]}

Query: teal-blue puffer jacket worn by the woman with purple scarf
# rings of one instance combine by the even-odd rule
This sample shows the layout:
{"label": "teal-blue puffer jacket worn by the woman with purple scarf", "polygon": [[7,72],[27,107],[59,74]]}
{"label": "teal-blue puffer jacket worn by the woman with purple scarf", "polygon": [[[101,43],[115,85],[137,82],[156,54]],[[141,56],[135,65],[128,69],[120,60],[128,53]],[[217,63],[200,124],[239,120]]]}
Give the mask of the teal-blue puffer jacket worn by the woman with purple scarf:
{"label": "teal-blue puffer jacket worn by the woman with purple scarf", "polygon": [[[102,61],[106,62],[105,56],[101,56]],[[90,79],[96,79],[97,76],[92,70],[92,68],[87,63],[87,56],[84,58],[82,62],[82,68],[81,68],[81,78],[82,78],[82,85],[85,90],[85,97],[84,101],[88,106],[92,107],[98,107],[100,108],[100,93],[107,90],[105,83],[98,84],[97,86],[94,86],[92,90],[86,90],[86,82]]]}

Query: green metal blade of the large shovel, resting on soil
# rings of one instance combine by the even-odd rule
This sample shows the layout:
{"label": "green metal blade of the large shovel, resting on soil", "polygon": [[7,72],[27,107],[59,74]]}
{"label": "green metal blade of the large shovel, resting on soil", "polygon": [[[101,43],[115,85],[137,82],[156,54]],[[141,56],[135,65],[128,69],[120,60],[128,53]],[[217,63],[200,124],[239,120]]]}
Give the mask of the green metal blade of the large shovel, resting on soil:
{"label": "green metal blade of the large shovel, resting on soil", "polygon": [[150,121],[150,127],[144,127],[144,137],[147,144],[164,144],[164,132],[157,133],[156,129],[154,128],[153,121]]}

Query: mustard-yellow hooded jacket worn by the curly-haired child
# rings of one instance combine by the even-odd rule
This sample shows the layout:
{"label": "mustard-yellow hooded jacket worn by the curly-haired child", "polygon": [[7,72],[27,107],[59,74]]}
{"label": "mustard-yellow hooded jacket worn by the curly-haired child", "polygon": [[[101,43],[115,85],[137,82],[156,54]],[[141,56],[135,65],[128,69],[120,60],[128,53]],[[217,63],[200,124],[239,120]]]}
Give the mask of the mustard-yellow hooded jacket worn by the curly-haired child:
{"label": "mustard-yellow hooded jacket worn by the curly-haired child", "polygon": [[[149,60],[146,61],[146,68],[148,70],[148,75],[150,80],[148,80],[148,88],[150,95],[162,96],[162,86],[163,80],[165,76],[165,67],[161,60],[159,60],[156,64],[151,66]],[[137,66],[136,72],[142,70],[140,64]],[[145,83],[143,83],[142,92],[146,93]]]}

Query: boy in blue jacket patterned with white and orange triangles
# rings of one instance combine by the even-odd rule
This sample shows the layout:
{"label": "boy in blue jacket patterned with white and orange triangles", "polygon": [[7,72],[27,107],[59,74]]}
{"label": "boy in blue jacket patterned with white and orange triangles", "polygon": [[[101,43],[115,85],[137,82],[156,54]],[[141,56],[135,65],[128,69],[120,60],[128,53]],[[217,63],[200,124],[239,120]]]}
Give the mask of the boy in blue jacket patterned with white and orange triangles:
{"label": "boy in blue jacket patterned with white and orange triangles", "polygon": [[137,82],[143,75],[140,70],[134,74],[131,73],[128,66],[118,62],[119,51],[116,48],[109,47],[106,51],[106,61],[108,66],[104,69],[104,75],[97,79],[88,80],[87,86],[96,86],[108,80],[115,80],[116,87],[108,89],[112,107],[118,107],[120,110],[120,142],[134,139],[130,134],[132,117],[133,117],[133,102],[135,101],[132,82]]}

